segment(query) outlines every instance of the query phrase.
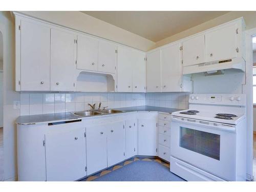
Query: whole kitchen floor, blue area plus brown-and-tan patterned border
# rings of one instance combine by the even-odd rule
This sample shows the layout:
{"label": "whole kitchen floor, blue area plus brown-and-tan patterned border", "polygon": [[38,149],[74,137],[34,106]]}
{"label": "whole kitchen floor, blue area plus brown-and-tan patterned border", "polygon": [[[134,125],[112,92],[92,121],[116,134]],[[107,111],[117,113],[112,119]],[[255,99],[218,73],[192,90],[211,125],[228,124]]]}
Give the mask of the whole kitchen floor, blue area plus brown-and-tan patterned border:
{"label": "whole kitchen floor, blue area plus brown-and-tan patterned border", "polygon": [[185,181],[160,159],[132,158],[83,181]]}

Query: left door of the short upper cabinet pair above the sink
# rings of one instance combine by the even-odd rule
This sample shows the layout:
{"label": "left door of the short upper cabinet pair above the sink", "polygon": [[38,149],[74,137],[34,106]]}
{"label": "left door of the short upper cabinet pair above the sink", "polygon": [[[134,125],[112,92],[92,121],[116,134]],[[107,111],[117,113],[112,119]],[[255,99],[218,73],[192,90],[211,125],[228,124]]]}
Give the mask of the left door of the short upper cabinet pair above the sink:
{"label": "left door of the short upper cabinet pair above the sink", "polygon": [[98,71],[98,40],[77,35],[77,69]]}

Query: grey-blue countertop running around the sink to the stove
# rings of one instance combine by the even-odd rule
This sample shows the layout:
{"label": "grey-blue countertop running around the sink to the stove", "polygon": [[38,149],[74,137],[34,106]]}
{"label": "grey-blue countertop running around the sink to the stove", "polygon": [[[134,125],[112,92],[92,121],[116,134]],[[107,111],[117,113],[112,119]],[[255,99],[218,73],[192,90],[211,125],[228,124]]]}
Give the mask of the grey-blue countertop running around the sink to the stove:
{"label": "grey-blue countertop running around the sink to the stove", "polygon": [[[123,113],[127,112],[163,112],[172,114],[176,111],[181,111],[181,109],[173,109],[173,108],[160,108],[157,106],[132,106],[129,108],[116,108],[117,110],[123,111]],[[120,114],[120,113],[118,113]],[[110,115],[110,114],[104,114]],[[99,115],[100,116],[100,115]],[[102,115],[103,116],[103,115]],[[92,117],[92,116],[90,116]],[[63,121],[63,120],[71,120],[71,119],[81,119],[86,117],[78,117],[75,116],[73,113],[55,113],[55,114],[42,114],[42,115],[25,115],[19,116],[16,119],[16,123],[18,124],[34,124],[34,123],[41,123],[41,122],[55,122],[55,121]]]}

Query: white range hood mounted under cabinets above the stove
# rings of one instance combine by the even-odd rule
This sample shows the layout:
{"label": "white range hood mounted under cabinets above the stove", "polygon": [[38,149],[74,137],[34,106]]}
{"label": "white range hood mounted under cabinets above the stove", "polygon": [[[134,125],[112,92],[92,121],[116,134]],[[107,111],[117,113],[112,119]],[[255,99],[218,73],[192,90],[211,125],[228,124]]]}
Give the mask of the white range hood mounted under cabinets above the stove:
{"label": "white range hood mounted under cabinets above the stove", "polygon": [[184,66],[183,75],[193,73],[214,73],[221,70],[235,70],[245,72],[245,60],[242,57],[220,61],[205,62],[194,66]]}

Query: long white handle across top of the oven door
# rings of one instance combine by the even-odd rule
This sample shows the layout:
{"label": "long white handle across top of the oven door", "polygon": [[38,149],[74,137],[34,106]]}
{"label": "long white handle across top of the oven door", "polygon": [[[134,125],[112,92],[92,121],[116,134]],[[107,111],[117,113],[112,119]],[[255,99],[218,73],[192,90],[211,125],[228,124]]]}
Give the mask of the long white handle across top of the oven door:
{"label": "long white handle across top of the oven door", "polygon": [[[181,120],[181,119],[184,119],[184,120]],[[208,122],[208,121],[195,120],[195,119],[179,118],[174,116],[172,117],[172,121],[186,123],[186,124],[200,125],[200,126],[208,127],[209,129],[214,129],[214,130],[236,132],[235,125],[224,125],[222,123],[217,123],[217,122]],[[210,124],[205,124],[200,122],[207,122],[212,124],[210,125]]]}

